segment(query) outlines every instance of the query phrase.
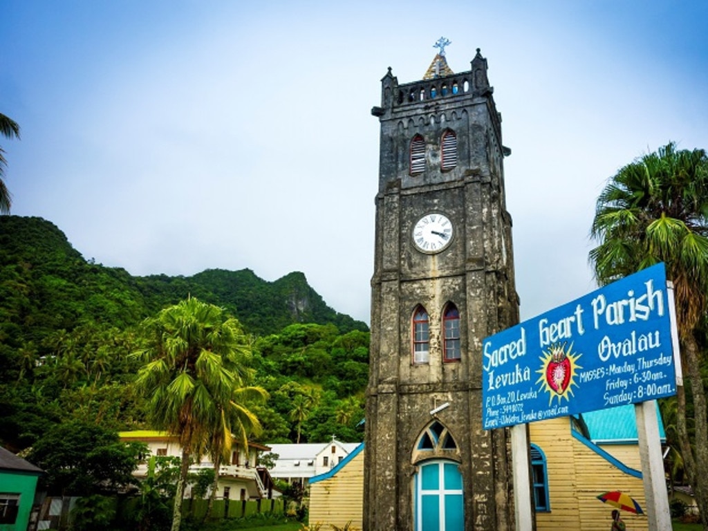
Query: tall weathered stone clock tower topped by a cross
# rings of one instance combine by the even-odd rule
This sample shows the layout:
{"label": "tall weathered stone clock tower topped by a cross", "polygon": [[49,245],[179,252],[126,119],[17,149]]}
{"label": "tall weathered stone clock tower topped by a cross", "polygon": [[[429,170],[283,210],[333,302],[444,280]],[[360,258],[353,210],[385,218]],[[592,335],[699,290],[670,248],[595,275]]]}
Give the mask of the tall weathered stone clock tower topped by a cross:
{"label": "tall weathered stone clock tower topped by a cross", "polygon": [[501,116],[477,50],[382,79],[365,531],[513,530],[506,430],[482,429],[481,346],[518,323]]}

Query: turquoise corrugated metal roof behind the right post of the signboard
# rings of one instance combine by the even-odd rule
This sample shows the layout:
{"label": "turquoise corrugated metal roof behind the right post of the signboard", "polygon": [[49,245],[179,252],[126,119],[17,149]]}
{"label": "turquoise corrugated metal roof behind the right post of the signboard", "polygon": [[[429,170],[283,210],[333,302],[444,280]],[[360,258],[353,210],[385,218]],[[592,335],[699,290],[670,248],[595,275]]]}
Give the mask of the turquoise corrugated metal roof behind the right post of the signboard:
{"label": "turquoise corrugated metal roof behind the right post of the signboard", "polygon": [[[663,442],[666,440],[666,433],[663,422],[661,422],[658,404],[656,416],[658,417],[659,437]],[[583,413],[583,420],[588,426],[590,440],[595,444],[636,443],[639,440],[639,435],[636,433],[636,416],[633,404]]]}

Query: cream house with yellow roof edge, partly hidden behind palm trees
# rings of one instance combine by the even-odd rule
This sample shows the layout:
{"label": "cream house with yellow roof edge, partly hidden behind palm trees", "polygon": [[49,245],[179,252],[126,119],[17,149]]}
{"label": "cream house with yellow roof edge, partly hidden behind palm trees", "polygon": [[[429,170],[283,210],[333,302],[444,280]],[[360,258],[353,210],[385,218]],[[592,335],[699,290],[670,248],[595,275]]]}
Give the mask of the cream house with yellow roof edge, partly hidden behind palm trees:
{"label": "cream house with yellow roof edge, partly hidden behind palm trees", "polygon": [[[182,449],[175,435],[164,431],[136,430],[119,432],[120,440],[125,442],[139,441],[147,444],[150,453],[155,456],[181,457]],[[270,447],[249,442],[246,452],[244,447],[234,443],[232,459],[219,467],[219,482],[217,497],[236,500],[251,500],[273,497],[273,481],[268,469],[258,466],[258,457]],[[214,464],[209,457],[203,457],[192,464],[190,472],[200,469],[212,469]],[[137,477],[147,474],[147,463],[141,464],[133,473]],[[185,489],[185,498],[190,497],[190,489]]]}

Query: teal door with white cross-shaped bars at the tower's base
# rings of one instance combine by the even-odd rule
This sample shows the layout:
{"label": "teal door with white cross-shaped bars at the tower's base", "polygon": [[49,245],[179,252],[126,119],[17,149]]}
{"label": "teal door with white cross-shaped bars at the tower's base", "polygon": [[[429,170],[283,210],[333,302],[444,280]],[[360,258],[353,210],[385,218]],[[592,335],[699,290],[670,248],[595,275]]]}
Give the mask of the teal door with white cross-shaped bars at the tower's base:
{"label": "teal door with white cross-shaped bars at the tower's base", "polygon": [[416,531],[464,531],[462,474],[452,461],[421,464],[416,474]]}

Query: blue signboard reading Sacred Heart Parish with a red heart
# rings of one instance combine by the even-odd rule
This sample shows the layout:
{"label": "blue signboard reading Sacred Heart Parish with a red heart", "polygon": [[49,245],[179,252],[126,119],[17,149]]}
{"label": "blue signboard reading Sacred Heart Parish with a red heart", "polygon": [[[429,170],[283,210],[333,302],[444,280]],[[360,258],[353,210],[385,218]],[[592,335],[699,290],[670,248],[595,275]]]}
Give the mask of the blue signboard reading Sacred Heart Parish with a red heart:
{"label": "blue signboard reading Sacred Heart Parish with a red heart", "polygon": [[663,263],[486,338],[484,429],[676,392]]}

